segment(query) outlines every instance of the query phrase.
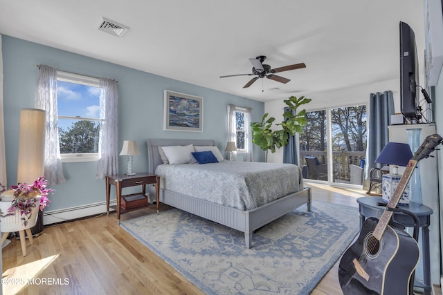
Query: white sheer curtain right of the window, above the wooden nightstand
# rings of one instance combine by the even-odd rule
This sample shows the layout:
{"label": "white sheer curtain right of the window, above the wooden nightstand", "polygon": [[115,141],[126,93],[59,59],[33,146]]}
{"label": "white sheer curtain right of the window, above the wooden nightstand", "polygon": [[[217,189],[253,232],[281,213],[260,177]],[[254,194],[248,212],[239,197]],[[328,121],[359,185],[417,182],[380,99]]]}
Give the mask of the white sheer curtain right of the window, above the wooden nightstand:
{"label": "white sheer curtain right of the window, above the wooden nightstand", "polygon": [[114,79],[100,79],[100,137],[97,164],[97,178],[118,173],[118,117],[117,82]]}

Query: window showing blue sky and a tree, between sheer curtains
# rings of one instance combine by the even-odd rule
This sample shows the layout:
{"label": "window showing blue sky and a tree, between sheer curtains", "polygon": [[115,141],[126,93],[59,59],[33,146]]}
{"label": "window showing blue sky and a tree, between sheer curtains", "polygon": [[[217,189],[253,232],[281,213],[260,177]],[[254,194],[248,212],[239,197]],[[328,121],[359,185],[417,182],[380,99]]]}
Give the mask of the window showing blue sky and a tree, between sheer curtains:
{"label": "window showing blue sky and a tree, between sheer curtains", "polygon": [[100,80],[57,71],[57,113],[63,162],[98,160]]}

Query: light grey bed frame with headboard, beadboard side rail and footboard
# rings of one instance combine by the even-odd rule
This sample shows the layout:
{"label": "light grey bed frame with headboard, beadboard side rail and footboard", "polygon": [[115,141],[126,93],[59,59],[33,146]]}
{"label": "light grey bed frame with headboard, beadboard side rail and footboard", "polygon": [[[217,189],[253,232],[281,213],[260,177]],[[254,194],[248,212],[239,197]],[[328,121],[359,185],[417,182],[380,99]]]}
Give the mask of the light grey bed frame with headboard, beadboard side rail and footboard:
{"label": "light grey bed frame with headboard, beadboard side rail and footboard", "polygon": [[[149,172],[154,173],[156,166],[163,164],[161,161],[158,146],[177,146],[194,144],[195,146],[214,146],[213,140],[147,140],[147,156]],[[154,187],[150,187],[151,196],[155,196]],[[293,211],[302,204],[307,204],[307,210],[311,211],[311,189],[305,188],[297,193],[264,204],[255,209],[242,211],[239,209],[226,207],[206,200],[193,198],[160,188],[160,202],[172,207],[187,211],[202,218],[212,220],[221,225],[226,225],[238,231],[244,232],[246,247],[251,248],[253,231],[267,225],[269,222],[280,218],[286,213]]]}

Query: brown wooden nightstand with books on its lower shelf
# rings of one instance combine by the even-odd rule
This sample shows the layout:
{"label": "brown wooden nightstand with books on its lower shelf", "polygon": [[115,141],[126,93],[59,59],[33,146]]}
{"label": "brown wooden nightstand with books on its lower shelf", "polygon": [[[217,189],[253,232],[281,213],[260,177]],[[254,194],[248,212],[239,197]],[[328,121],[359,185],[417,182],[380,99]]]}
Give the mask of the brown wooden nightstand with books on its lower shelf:
{"label": "brown wooden nightstand with books on its lower shelf", "polygon": [[146,184],[155,184],[156,193],[156,209],[157,214],[159,214],[159,193],[160,193],[160,176],[150,173],[137,173],[136,175],[128,176],[127,174],[118,175],[107,175],[106,176],[106,212],[109,216],[109,196],[111,194],[111,184],[116,186],[116,200],[117,200],[117,221],[120,224],[120,214],[127,211],[132,211],[136,209],[141,209],[147,207],[149,204],[144,206],[136,207],[133,209],[123,209],[121,207],[122,189],[123,187],[136,187],[141,185],[143,196],[146,196]]}

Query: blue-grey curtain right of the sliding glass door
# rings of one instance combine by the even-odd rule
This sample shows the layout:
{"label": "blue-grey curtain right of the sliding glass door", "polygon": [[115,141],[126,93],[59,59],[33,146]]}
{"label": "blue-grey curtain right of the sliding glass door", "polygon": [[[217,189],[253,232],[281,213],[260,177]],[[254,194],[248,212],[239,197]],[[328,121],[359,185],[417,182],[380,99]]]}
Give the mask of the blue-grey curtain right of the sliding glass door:
{"label": "blue-grey curtain right of the sliding glass door", "polygon": [[389,142],[388,126],[390,125],[390,115],[393,114],[394,97],[392,91],[370,94],[368,146],[366,147],[365,181],[363,184],[366,189],[369,186],[370,169],[374,166],[381,168],[381,164],[376,164],[374,161]]}

